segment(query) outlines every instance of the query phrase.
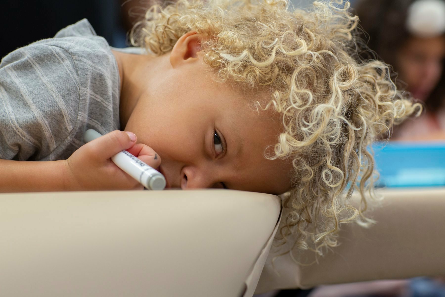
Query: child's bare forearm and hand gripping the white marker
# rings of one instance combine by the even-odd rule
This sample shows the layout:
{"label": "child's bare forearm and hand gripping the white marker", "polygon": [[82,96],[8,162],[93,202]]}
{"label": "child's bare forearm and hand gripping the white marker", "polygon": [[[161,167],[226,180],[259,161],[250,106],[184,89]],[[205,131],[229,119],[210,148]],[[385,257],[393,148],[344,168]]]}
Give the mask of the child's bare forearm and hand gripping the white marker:
{"label": "child's bare forearm and hand gripping the white marker", "polygon": [[140,183],[111,161],[127,150],[157,168],[159,156],[146,145],[136,144],[130,134],[113,131],[81,146],[67,160],[11,161],[0,159],[0,192],[86,191],[142,189]]}

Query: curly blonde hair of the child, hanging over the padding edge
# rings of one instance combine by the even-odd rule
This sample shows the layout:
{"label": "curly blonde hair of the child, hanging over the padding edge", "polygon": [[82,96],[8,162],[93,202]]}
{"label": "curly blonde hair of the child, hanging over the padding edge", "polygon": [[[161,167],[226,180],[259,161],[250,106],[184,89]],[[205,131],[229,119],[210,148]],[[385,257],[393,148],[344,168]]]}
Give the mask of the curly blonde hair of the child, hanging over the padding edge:
{"label": "curly blonde hair of the child, hanging over the padding edge", "polygon": [[[292,234],[294,245],[318,252],[337,245],[341,222],[372,223],[363,215],[373,197],[368,146],[421,111],[388,65],[360,61],[358,18],[348,8],[342,0],[310,10],[291,10],[287,0],[178,0],[151,7],[130,35],[162,55],[187,32],[205,34],[204,61],[217,79],[270,94],[257,103],[282,114],[284,130],[267,158],[293,164],[278,237]],[[355,189],[359,207],[350,204]]]}

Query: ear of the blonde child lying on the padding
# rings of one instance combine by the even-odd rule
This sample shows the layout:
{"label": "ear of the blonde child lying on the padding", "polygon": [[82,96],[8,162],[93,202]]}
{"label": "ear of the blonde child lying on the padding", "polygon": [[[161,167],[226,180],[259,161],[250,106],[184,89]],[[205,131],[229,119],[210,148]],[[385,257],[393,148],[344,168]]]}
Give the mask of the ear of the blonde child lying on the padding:
{"label": "ear of the blonde child lying on the padding", "polygon": [[173,68],[198,60],[198,53],[201,51],[202,34],[190,31],[182,35],[170,53],[170,64]]}

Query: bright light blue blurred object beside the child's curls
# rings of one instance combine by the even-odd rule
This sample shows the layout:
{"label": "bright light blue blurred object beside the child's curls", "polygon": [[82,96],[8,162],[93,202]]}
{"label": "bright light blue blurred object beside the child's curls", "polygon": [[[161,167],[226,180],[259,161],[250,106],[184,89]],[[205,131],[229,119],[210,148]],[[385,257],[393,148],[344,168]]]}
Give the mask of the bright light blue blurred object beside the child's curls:
{"label": "bright light blue blurred object beside the child's curls", "polygon": [[373,146],[377,187],[445,186],[445,142],[388,142]]}

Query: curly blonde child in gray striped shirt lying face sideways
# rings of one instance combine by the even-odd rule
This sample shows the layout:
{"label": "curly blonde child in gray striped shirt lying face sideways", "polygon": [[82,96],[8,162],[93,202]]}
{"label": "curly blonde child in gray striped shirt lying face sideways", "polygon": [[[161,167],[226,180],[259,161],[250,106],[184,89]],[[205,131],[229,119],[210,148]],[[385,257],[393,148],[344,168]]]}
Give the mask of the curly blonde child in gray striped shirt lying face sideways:
{"label": "curly blonde child in gray striped shirt lying face sideways", "polygon": [[[387,65],[358,61],[358,20],[337,2],[154,6],[131,33],[148,55],[110,49],[86,20],[17,49],[0,64],[0,189],[141,188],[109,159],[125,149],[167,187],[287,192],[283,236],[335,245],[340,212],[366,205],[367,146],[419,110]],[[114,131],[83,145],[90,128]],[[360,209],[345,193],[358,180]]]}

